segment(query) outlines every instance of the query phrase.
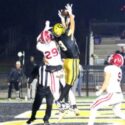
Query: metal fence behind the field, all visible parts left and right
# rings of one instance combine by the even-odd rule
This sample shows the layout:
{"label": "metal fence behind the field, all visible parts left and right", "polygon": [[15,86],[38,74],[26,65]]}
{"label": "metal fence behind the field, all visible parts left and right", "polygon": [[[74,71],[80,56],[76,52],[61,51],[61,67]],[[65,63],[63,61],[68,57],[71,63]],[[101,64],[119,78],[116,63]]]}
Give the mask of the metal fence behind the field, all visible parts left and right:
{"label": "metal fence behind the field, all visible parts left and right", "polygon": [[[81,92],[84,93],[85,96],[92,95],[91,93],[95,92],[98,86],[100,86],[103,82],[103,70],[104,66],[83,66],[83,80],[81,83]],[[125,91],[125,67],[123,70],[123,79],[121,82],[121,86],[123,91]],[[0,98],[1,93],[7,93],[8,90],[8,72],[0,73]],[[23,92],[26,93],[26,83],[22,83]]]}

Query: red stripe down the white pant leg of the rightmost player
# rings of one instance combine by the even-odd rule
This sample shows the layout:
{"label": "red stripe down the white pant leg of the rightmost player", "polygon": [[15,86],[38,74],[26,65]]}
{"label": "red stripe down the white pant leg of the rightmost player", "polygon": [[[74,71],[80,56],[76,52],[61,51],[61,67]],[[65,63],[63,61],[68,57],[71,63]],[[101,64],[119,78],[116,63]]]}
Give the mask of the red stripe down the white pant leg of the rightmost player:
{"label": "red stripe down the white pant leg of the rightmost player", "polygon": [[98,105],[100,105],[101,103],[110,100],[111,97],[112,97],[112,95],[113,95],[112,93],[109,93],[106,97],[97,100],[97,101],[91,106],[91,108],[95,108],[95,107],[97,107]]}

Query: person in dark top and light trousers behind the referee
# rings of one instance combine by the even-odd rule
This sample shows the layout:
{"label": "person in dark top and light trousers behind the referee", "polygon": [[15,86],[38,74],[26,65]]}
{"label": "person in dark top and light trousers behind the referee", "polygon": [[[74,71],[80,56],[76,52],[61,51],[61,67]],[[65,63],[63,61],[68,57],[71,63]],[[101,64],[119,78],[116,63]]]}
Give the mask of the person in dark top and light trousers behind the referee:
{"label": "person in dark top and light trousers behind the referee", "polygon": [[[37,66],[34,56],[30,56],[30,63],[31,63],[30,69],[31,69],[31,72],[32,72],[32,70]],[[31,74],[31,72],[30,72],[30,74]],[[28,99],[34,99],[35,98],[36,85],[37,85],[37,77],[34,77],[34,79],[32,80],[32,82],[30,84],[30,87],[27,88]]]}

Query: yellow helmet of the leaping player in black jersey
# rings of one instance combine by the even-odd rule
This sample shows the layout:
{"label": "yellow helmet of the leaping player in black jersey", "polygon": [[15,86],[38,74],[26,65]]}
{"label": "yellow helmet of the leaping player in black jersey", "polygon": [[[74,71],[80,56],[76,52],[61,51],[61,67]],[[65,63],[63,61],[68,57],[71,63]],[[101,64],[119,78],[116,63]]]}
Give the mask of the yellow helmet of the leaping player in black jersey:
{"label": "yellow helmet of the leaping player in black jersey", "polygon": [[61,23],[55,24],[52,30],[55,36],[61,36],[65,33],[65,28]]}

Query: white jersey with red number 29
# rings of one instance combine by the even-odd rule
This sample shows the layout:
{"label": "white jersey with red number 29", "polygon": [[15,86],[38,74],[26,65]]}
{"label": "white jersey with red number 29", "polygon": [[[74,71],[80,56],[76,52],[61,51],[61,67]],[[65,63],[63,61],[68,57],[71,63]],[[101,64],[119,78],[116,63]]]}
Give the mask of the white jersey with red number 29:
{"label": "white jersey with red number 29", "polygon": [[48,44],[37,42],[36,48],[43,53],[47,65],[62,65],[61,55],[55,41],[51,41]]}

